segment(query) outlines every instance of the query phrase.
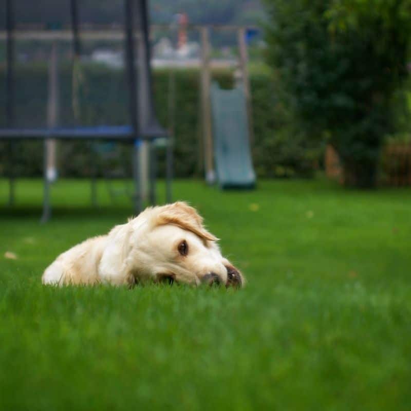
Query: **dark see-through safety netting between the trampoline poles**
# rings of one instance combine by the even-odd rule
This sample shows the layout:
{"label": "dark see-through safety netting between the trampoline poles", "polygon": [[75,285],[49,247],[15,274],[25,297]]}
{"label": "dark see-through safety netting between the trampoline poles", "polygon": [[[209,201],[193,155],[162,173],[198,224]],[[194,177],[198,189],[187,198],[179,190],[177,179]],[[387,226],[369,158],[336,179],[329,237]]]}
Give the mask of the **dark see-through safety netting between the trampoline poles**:
{"label": "dark see-through safety netting between the trampoline poles", "polygon": [[[124,2],[78,0],[80,59],[73,61],[69,0],[13,0],[14,126],[45,127],[49,70],[58,56],[58,123],[77,125],[130,124],[125,65]],[[135,2],[135,27],[139,26]],[[0,15],[5,15],[1,2]],[[5,20],[0,23],[5,28]],[[33,23],[35,21],[35,23]],[[30,22],[30,23],[29,23]],[[32,34],[31,34],[32,33]],[[0,127],[6,127],[6,41],[0,42]]]}

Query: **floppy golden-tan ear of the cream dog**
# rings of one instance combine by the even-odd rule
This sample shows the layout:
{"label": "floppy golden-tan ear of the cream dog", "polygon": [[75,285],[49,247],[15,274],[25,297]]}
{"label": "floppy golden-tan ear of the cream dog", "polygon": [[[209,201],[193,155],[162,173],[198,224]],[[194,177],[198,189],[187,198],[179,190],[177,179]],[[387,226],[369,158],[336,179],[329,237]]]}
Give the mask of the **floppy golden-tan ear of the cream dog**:
{"label": "floppy golden-tan ear of the cream dog", "polygon": [[216,241],[218,239],[204,228],[202,217],[197,211],[183,201],[159,207],[156,224],[159,226],[174,224],[184,230],[192,231],[204,240]]}

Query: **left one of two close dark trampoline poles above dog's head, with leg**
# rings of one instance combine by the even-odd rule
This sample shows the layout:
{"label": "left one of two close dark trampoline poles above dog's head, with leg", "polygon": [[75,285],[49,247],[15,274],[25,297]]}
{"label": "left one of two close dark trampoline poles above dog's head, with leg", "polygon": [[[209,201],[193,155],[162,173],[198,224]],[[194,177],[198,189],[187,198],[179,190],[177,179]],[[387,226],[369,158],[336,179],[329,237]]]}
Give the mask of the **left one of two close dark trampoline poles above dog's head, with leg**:
{"label": "left one of two close dark trampoline poles above dog's head, with leg", "polygon": [[140,136],[139,123],[137,119],[137,89],[136,89],[136,70],[135,70],[135,49],[134,49],[134,29],[133,29],[133,0],[124,0],[125,14],[125,49],[126,49],[126,65],[129,89],[129,115],[130,121],[134,130],[134,145],[133,145],[133,179],[134,179],[134,212],[138,214],[141,211],[141,196],[139,186],[139,151],[140,151]]}

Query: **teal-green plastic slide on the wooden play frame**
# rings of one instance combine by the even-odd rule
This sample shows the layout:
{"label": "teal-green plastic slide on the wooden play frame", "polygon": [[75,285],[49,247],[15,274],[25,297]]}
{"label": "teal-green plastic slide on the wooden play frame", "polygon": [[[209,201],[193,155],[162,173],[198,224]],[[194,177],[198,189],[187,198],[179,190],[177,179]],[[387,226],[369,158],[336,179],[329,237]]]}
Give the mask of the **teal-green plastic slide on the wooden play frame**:
{"label": "teal-green plastic slide on the wooden play frame", "polygon": [[244,90],[223,90],[213,83],[211,106],[218,184],[222,189],[254,188]]}

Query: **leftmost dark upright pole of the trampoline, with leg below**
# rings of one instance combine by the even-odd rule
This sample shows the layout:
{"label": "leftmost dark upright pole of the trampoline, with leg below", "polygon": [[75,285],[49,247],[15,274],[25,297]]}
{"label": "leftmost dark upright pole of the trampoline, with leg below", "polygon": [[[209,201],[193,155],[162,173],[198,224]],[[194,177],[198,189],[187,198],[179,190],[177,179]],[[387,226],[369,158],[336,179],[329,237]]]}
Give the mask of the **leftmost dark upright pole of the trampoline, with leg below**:
{"label": "leftmost dark upright pole of the trampoline, with leg below", "polygon": [[[7,74],[6,74],[6,117],[9,128],[14,125],[14,10],[12,0],[6,1],[6,29],[7,29]],[[9,206],[14,205],[14,173],[13,157],[14,142],[9,144]]]}

